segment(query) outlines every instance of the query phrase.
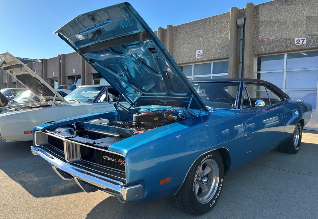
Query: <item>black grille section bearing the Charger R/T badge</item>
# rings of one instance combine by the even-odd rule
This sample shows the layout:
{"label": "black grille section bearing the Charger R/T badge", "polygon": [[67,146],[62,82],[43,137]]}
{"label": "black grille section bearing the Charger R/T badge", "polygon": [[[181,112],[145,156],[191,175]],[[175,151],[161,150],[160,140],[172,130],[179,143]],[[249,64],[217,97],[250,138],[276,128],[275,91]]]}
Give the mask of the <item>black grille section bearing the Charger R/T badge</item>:
{"label": "black grille section bearing the Charger R/T badge", "polygon": [[83,161],[125,171],[125,158],[122,155],[80,145],[80,156]]}

